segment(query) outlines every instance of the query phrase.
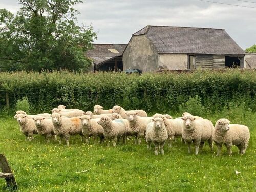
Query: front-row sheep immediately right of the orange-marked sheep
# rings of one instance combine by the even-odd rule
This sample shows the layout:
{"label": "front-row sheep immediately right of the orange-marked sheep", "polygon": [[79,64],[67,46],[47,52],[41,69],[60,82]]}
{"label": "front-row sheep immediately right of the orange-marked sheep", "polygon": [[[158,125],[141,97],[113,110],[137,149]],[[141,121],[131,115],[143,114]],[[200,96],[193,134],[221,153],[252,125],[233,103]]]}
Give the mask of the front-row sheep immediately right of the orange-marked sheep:
{"label": "front-row sheep immediately right of the orange-marked sheep", "polygon": [[82,122],[82,133],[86,136],[86,143],[89,143],[90,137],[93,137],[94,140],[96,137],[100,137],[100,143],[104,141],[103,127],[100,126],[97,122],[99,119],[92,119],[88,115],[83,115],[79,117]]}

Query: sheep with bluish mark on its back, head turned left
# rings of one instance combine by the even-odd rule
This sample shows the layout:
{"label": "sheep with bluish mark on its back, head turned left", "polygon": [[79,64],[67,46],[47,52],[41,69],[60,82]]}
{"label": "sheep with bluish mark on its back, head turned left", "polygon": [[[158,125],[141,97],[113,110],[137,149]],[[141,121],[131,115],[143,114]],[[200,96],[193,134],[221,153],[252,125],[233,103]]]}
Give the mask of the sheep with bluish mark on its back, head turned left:
{"label": "sheep with bluish mark on its back, head turned left", "polygon": [[127,127],[122,119],[111,120],[109,117],[104,116],[98,120],[98,124],[103,127],[103,134],[107,140],[107,146],[110,146],[112,142],[113,146],[116,147],[116,140],[123,139],[123,144],[126,143]]}

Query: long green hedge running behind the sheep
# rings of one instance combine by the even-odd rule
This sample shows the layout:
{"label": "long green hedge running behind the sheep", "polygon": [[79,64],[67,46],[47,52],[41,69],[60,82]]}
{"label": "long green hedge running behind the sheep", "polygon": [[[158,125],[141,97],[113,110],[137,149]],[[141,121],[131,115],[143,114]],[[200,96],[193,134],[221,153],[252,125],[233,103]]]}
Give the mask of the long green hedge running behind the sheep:
{"label": "long green hedge running behind the sheep", "polygon": [[256,111],[256,71],[195,71],[191,73],[0,73],[0,108],[10,108],[27,96],[31,112],[49,112],[59,104],[92,110],[121,105],[125,109],[172,112],[198,95],[208,110],[221,110],[230,103],[243,103]]}

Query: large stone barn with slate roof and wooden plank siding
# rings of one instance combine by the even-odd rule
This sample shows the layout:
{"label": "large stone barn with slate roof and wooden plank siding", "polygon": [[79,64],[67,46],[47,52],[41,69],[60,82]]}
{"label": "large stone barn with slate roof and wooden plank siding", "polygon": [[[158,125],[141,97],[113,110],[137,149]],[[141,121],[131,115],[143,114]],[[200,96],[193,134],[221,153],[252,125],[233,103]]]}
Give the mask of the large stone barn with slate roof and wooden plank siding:
{"label": "large stone barn with slate roof and wooden plank siding", "polygon": [[123,71],[244,67],[244,51],[224,29],[146,26],[123,52]]}

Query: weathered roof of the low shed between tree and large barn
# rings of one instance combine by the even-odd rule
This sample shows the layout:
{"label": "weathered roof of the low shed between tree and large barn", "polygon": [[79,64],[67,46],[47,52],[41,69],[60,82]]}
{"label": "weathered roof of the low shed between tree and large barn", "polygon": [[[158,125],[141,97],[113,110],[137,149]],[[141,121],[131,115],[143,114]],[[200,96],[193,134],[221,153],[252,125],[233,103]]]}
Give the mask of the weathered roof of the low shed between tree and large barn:
{"label": "weathered roof of the low shed between tree and large barn", "polygon": [[93,44],[94,49],[89,50],[86,56],[93,59],[93,63],[98,65],[105,60],[123,54],[126,44]]}

